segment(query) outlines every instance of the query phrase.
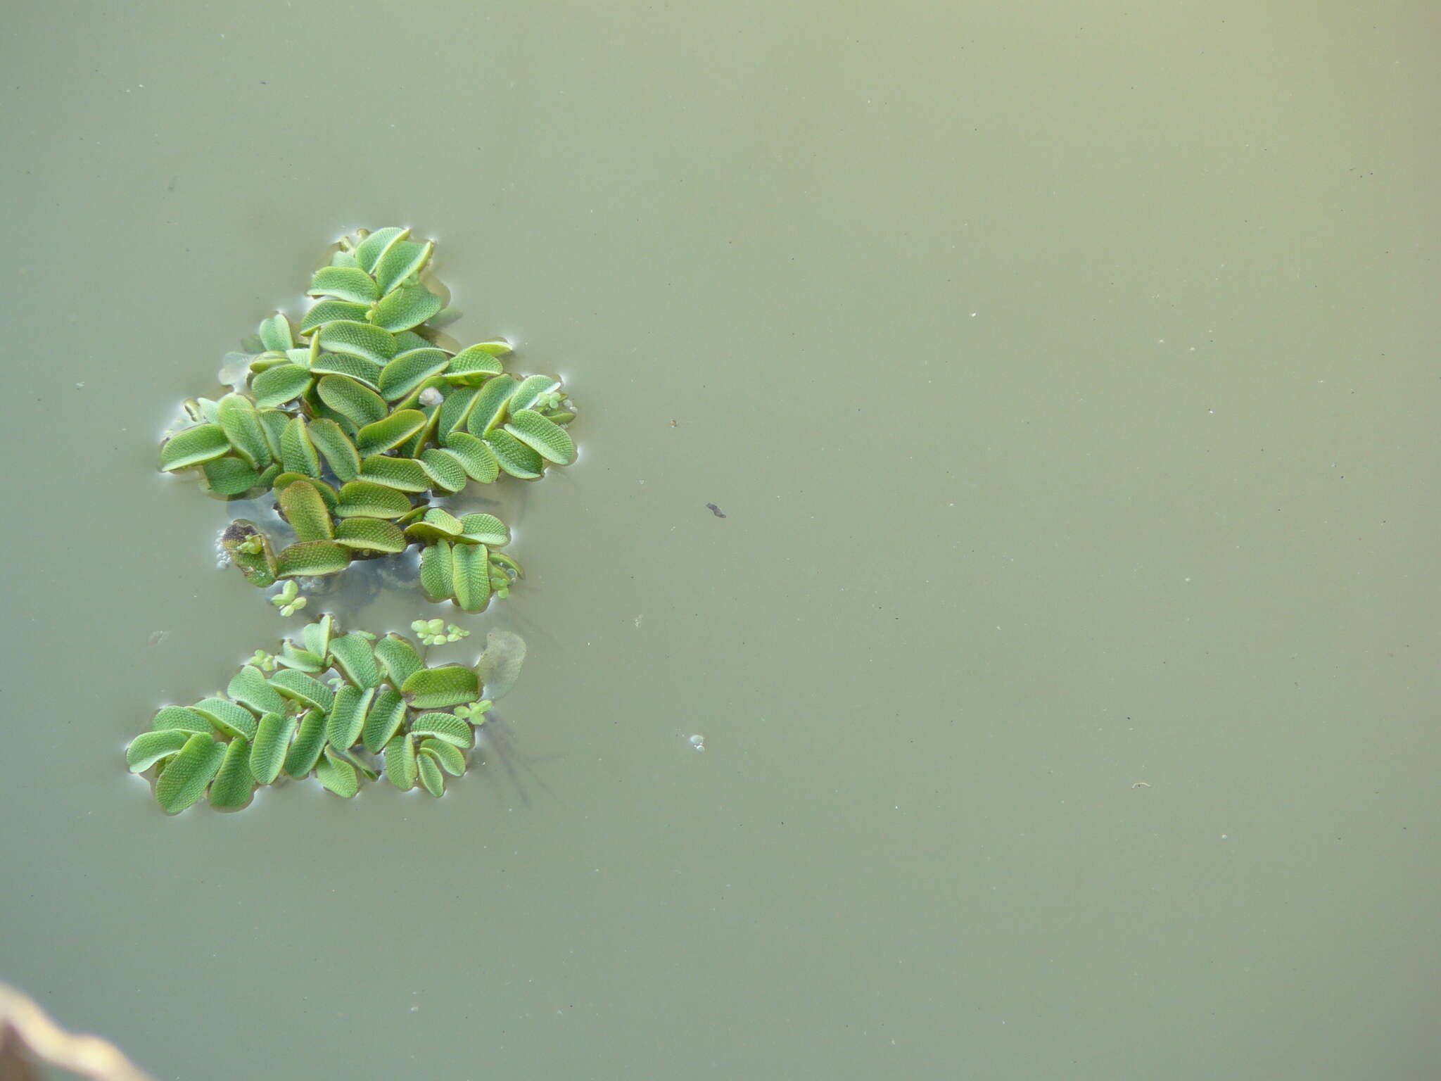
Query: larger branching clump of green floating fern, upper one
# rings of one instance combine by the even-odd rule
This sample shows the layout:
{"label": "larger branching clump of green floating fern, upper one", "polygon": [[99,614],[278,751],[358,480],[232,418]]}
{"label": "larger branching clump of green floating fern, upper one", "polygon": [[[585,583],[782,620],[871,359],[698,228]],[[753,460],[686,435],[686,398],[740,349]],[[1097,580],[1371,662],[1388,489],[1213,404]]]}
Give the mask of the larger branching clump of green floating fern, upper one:
{"label": "larger branching clump of green floating fern, upper one", "polygon": [[558,379],[504,370],[506,342],[435,343],[442,301],[421,280],[432,252],[399,228],[342,241],[298,327],[264,320],[238,389],[187,401],[189,427],[161,445],[161,471],[195,470],[219,497],[274,493],[293,543],[277,549],[245,519],[222,536],[252,584],[419,545],[427,597],[477,613],[523,577],[497,551],[510,540],[500,519],[457,517],[435,500],[569,464],[575,414]]}

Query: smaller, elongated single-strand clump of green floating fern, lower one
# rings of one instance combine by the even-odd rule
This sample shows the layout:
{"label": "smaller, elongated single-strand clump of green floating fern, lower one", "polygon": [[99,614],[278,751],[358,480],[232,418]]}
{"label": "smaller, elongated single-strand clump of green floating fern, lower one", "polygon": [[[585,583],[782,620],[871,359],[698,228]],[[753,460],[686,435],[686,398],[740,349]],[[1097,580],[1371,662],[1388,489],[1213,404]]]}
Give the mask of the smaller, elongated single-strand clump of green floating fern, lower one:
{"label": "smaller, elongated single-strand clump of green floating fern, lower one", "polygon": [[[412,630],[427,644],[467,634],[432,624]],[[465,773],[476,729],[525,656],[519,636],[493,630],[474,666],[428,667],[409,639],[342,634],[324,615],[278,654],[256,650],[225,695],[160,709],[125,758],[131,773],[154,771],[156,800],[171,814],[203,796],[212,807],[245,807],[256,787],[310,774],[346,798],[382,773],[438,797],[447,774]]]}

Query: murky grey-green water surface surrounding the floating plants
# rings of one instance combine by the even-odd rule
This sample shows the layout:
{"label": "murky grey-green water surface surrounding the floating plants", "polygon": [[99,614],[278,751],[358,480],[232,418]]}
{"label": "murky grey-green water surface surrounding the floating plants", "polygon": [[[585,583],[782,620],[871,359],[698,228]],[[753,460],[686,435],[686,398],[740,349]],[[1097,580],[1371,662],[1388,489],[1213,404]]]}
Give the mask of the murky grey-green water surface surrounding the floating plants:
{"label": "murky grey-green water surface surrounding the floating plants", "polygon": [[[1428,1075],[1419,7],[10,25],[0,979],[187,1081]],[[285,621],[154,435],[389,222],[584,408],[513,739],[166,819]]]}

